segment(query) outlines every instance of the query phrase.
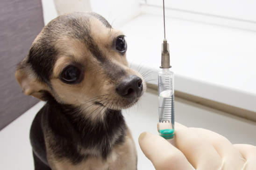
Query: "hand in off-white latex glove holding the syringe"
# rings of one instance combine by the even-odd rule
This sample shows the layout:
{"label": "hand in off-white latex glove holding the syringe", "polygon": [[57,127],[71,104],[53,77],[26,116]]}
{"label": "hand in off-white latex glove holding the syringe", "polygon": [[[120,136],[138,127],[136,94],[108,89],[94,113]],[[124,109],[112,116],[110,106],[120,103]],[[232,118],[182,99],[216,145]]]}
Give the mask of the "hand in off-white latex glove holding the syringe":
{"label": "hand in off-white latex glove holding the syringe", "polygon": [[175,144],[144,132],[140,147],[156,170],[256,170],[256,146],[232,144],[213,131],[175,123]]}

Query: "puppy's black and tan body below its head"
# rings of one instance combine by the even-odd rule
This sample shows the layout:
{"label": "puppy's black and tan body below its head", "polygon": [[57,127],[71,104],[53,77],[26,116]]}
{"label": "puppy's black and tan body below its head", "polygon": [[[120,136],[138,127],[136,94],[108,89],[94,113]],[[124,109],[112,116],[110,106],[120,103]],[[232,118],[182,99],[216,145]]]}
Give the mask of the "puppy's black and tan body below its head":
{"label": "puppy's black and tan body below its head", "polygon": [[136,170],[134,141],[120,111],[111,110],[104,122],[95,123],[74,119],[69,106],[52,102],[37,113],[31,127],[35,166],[42,161],[52,170]]}

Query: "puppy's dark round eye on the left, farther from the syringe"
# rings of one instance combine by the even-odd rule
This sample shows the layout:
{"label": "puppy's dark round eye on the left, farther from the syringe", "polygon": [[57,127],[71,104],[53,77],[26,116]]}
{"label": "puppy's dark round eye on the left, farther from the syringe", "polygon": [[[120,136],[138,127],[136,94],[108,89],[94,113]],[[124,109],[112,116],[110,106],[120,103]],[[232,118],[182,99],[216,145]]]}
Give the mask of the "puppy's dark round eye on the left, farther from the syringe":
{"label": "puppy's dark round eye on the left, farther from the syringe", "polygon": [[61,80],[65,83],[76,83],[81,75],[81,71],[75,66],[64,68],[61,73]]}

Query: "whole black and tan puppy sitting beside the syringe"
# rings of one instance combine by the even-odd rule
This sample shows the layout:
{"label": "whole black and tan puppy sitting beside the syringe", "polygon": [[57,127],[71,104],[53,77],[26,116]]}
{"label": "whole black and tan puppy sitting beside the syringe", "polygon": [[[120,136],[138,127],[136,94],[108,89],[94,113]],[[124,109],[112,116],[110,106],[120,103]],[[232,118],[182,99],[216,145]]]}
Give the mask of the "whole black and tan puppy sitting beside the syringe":
{"label": "whole black and tan puppy sitting beside the syringe", "polygon": [[96,13],[58,16],[16,68],[22,91],[46,101],[30,129],[35,170],[136,170],[121,109],[146,89],[122,32]]}

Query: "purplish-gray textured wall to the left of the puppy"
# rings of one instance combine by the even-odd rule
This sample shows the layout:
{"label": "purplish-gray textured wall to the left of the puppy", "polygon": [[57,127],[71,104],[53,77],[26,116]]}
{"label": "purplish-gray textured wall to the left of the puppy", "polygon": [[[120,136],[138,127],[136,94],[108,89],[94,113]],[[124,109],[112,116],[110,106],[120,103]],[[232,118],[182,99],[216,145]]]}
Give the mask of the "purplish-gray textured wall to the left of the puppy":
{"label": "purplish-gray textured wall to the left of the puppy", "polygon": [[43,26],[41,0],[0,0],[0,129],[38,102],[22,94],[14,72]]}

